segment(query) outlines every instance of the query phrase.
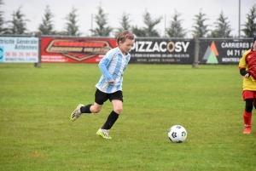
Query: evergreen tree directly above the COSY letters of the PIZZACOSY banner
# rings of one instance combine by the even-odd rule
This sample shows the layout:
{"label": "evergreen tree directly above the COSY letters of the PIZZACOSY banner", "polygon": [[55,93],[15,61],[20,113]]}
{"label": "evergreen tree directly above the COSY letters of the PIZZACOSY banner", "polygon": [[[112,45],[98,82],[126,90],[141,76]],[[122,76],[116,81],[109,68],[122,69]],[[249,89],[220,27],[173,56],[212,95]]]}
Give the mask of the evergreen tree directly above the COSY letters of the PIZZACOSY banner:
{"label": "evergreen tree directly above the COSY letters of the PIZZACOSY banner", "polygon": [[175,10],[175,14],[170,21],[170,26],[167,28],[166,33],[169,37],[185,37],[187,31],[183,29],[181,26],[182,20],[178,20],[177,18],[180,17],[181,14],[177,13]]}

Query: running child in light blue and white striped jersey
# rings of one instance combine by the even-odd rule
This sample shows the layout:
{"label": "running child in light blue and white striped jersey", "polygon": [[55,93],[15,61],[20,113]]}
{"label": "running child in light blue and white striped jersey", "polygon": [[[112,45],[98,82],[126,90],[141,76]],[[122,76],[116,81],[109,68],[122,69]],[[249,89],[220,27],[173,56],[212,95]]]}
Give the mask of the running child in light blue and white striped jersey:
{"label": "running child in light blue and white striped jersey", "polygon": [[123,31],[117,37],[117,47],[108,51],[99,63],[102,77],[96,83],[94,105],[79,104],[71,114],[71,120],[75,121],[83,113],[97,113],[102,110],[105,101],[110,100],[113,111],[110,112],[106,123],[103,124],[96,134],[104,139],[112,139],[108,130],[119,118],[123,110],[122,82],[123,74],[131,58],[129,51],[135,42],[134,35],[129,31]]}

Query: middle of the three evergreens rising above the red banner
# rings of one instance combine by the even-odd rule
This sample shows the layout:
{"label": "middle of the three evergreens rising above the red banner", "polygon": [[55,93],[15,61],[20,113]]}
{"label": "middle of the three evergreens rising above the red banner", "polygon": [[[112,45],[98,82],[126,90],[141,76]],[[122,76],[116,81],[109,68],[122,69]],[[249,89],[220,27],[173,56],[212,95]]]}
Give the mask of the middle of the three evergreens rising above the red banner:
{"label": "middle of the three evergreens rising above the red banner", "polygon": [[77,17],[76,14],[77,9],[72,8],[71,12],[67,14],[67,17],[65,18],[67,20],[65,31],[65,35],[67,36],[80,36],[81,33],[79,32],[79,26],[77,26]]}

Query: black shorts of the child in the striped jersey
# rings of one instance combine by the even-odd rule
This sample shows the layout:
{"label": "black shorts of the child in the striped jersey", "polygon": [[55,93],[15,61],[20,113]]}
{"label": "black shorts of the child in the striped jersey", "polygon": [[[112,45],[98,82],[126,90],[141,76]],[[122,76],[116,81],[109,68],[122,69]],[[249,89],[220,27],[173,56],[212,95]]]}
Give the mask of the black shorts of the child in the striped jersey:
{"label": "black shorts of the child in the striped jersey", "polygon": [[109,101],[121,100],[122,102],[124,102],[123,92],[122,91],[116,91],[113,94],[106,94],[106,93],[102,92],[101,90],[99,90],[98,88],[96,88],[95,102],[99,105],[103,105],[103,103],[107,100],[109,100]]}

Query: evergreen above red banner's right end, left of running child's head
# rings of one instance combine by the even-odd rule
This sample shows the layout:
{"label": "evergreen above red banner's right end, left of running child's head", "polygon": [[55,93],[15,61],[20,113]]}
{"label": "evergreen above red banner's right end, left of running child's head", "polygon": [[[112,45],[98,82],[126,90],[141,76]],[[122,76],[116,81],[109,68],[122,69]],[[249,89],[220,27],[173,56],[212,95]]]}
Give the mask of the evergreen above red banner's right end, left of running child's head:
{"label": "evergreen above red banner's right end, left of running child's head", "polygon": [[104,14],[101,6],[99,6],[97,9],[98,14],[96,14],[95,20],[98,27],[90,31],[93,32],[93,36],[95,37],[109,37],[111,31],[113,31],[113,28],[108,26],[108,14]]}

